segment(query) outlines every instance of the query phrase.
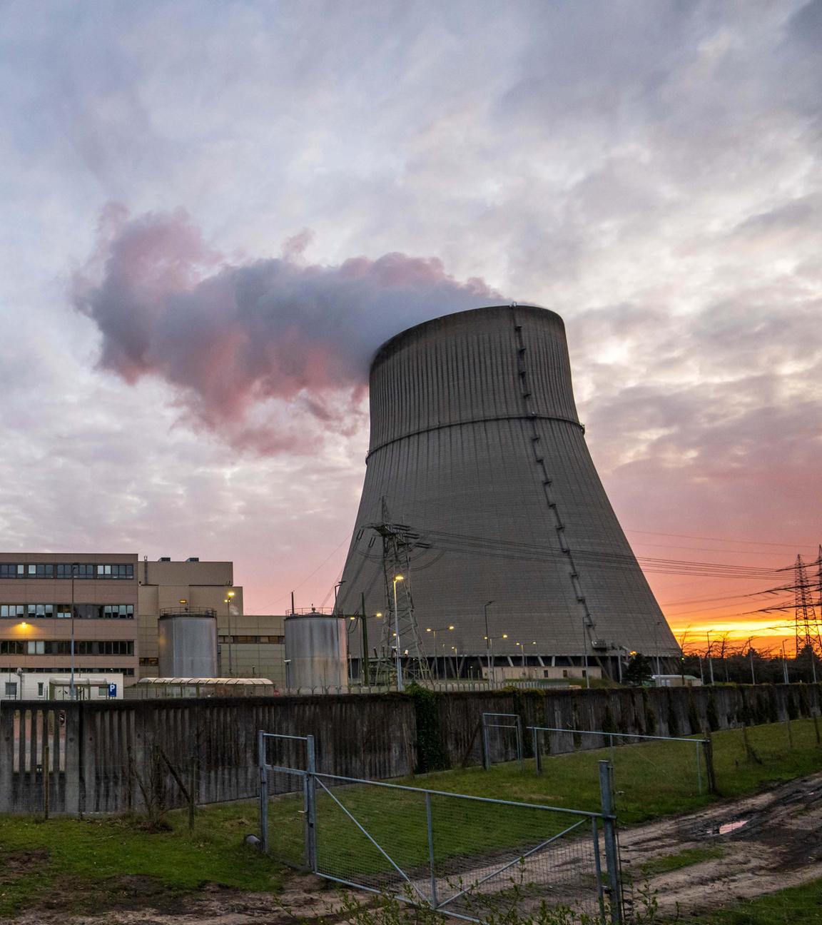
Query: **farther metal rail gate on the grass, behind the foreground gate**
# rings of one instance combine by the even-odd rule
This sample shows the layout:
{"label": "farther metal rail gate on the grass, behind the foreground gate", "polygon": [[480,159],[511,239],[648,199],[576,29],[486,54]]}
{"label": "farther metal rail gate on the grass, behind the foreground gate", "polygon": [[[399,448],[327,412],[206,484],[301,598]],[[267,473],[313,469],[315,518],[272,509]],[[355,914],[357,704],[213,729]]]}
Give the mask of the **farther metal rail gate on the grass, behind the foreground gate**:
{"label": "farther metal rail gate on the grass, behind the foreground gate", "polygon": [[[715,790],[713,751],[709,739],[670,735],[636,735],[604,730],[528,726],[534,770],[544,770],[546,755],[593,752],[587,773],[607,758],[614,773],[617,798],[640,796],[652,786],[657,796],[702,796]],[[630,747],[629,747],[630,746]],[[632,791],[636,790],[636,793]]]}

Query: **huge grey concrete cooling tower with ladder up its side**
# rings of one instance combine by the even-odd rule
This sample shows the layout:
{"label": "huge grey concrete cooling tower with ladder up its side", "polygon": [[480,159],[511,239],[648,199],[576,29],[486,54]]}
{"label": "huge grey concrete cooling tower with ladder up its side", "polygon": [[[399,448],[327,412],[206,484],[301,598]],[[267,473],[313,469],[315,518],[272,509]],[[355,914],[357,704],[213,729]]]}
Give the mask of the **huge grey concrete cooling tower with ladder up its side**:
{"label": "huge grey concrete cooling tower with ladder up its side", "polygon": [[[370,657],[390,661],[396,623],[402,655],[440,676],[483,676],[490,652],[497,679],[679,654],[585,445],[558,314],[449,314],[377,351],[338,610],[363,595]],[[359,659],[359,631],[350,646]]]}

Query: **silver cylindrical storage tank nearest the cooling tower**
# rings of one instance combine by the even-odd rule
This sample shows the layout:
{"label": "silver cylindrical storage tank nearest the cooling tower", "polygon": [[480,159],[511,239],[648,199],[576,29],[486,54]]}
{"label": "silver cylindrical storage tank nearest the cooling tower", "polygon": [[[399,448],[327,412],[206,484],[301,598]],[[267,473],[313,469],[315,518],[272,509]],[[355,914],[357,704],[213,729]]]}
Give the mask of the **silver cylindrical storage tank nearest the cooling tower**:
{"label": "silver cylindrical storage tank nearest the cooling tower", "polygon": [[286,686],[320,690],[348,684],[344,618],[325,613],[286,617]]}

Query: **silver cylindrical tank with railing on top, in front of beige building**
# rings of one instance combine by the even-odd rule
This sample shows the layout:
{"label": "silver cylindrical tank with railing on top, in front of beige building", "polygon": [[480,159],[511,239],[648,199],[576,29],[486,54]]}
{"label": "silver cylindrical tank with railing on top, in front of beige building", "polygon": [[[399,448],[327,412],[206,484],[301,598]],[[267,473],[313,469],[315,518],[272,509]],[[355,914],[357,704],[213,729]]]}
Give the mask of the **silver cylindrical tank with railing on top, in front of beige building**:
{"label": "silver cylindrical tank with railing on top, in front of beige building", "polygon": [[161,612],[157,621],[157,656],[161,678],[215,678],[215,612]]}

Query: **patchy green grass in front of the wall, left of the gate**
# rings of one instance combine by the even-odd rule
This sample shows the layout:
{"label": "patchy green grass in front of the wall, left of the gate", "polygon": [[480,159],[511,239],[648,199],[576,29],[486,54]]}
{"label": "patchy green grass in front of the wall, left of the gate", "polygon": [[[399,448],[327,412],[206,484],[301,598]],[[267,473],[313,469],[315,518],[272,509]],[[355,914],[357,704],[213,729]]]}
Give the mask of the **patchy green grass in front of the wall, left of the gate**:
{"label": "patchy green grass in front of the wall, left of the gate", "polygon": [[[30,906],[55,889],[68,906],[116,897],[118,878],[151,877],[169,896],[206,882],[275,890],[282,871],[242,844],[256,831],[256,806],[203,808],[193,833],[184,813],[170,813],[170,832],[149,833],[140,820],[117,817],[47,822],[0,818],[0,915]],[[61,904],[62,905],[62,904]]]}

